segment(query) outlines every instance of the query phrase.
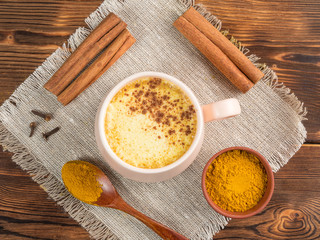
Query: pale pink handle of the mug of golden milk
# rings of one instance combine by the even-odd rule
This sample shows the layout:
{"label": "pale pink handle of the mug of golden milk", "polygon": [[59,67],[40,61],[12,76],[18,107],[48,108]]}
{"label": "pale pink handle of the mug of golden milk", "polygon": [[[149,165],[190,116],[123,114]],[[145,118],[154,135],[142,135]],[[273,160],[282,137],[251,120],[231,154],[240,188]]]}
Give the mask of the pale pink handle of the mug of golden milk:
{"label": "pale pink handle of the mug of golden milk", "polygon": [[222,120],[237,116],[241,113],[239,101],[235,98],[228,98],[219,102],[202,106],[204,122]]}

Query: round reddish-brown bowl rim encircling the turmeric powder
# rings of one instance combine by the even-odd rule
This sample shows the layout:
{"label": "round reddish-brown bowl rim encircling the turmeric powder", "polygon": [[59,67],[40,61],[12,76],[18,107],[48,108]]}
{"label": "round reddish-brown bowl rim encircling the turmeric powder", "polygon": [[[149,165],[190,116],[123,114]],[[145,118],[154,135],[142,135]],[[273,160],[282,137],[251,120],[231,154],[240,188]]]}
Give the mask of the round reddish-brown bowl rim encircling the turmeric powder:
{"label": "round reddish-brown bowl rim encircling the turmeric powder", "polygon": [[[252,153],[260,160],[260,162],[264,166],[266,173],[267,173],[268,183],[267,183],[266,192],[264,193],[263,197],[261,198],[260,202],[257,205],[255,205],[253,208],[251,208],[245,212],[230,212],[230,211],[227,211],[227,210],[220,208],[217,204],[215,204],[211,200],[209,194],[207,193],[207,189],[206,189],[206,185],[205,185],[206,172],[208,170],[208,167],[212,163],[212,161],[215,158],[217,158],[219,155],[221,155],[222,153],[225,153],[225,152],[231,151],[231,150],[244,150],[249,153]],[[202,185],[202,191],[203,191],[204,197],[206,198],[209,205],[216,212],[220,213],[223,216],[230,217],[230,218],[247,218],[247,217],[251,217],[253,215],[256,215],[257,213],[260,213],[265,208],[265,206],[269,203],[269,201],[272,197],[272,194],[273,194],[273,189],[274,189],[274,176],[273,176],[273,172],[272,172],[271,166],[269,165],[268,161],[257,151],[252,150],[250,148],[246,148],[246,147],[230,147],[230,148],[223,149],[220,152],[216,153],[208,161],[208,163],[206,164],[206,166],[203,169],[201,185]]]}

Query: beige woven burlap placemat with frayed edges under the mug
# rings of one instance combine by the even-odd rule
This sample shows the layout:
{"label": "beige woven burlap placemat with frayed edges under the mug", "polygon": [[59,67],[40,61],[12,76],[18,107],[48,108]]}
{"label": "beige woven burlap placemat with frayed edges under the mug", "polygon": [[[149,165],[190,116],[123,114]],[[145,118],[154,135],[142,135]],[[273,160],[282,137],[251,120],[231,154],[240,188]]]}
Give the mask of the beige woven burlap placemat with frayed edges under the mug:
{"label": "beige woven burlap placemat with frayed edges under the mug", "polygon": [[[286,164],[306,137],[301,121],[303,104],[277,83],[276,74],[263,67],[265,78],[247,94],[240,93],[175,28],[172,23],[192,4],[177,0],[105,1],[86,19],[68,44],[57,49],[1,107],[0,143],[14,152],[13,160],[27,170],[71,217],[96,239],[158,239],[133,217],[113,209],[89,206],[74,199],[62,185],[64,163],[83,159],[96,163],[110,177],[120,195],[136,209],[191,239],[210,239],[228,219],[213,211],[201,191],[201,172],[210,157],[223,148],[246,146],[263,154],[274,171]],[[221,23],[199,6],[218,29]],[[137,42],[97,82],[66,107],[43,85],[91,29],[109,13],[119,15]],[[247,49],[242,48],[246,54]],[[249,58],[256,62],[254,55]],[[94,140],[94,117],[102,97],[125,77],[140,71],[160,71],[182,80],[202,104],[224,98],[239,99],[242,113],[206,125],[202,150],[181,175],[161,183],[138,183],[119,176],[103,162]],[[30,110],[54,113],[29,138]],[[41,133],[60,126],[48,142]]]}

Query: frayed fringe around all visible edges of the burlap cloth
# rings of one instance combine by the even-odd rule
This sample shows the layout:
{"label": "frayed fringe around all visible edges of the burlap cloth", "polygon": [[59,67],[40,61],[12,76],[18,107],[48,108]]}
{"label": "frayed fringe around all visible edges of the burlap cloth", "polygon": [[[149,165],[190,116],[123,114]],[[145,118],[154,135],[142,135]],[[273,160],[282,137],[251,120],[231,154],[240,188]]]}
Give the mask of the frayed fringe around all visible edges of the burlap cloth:
{"label": "frayed fringe around all visible edges of the burlap cloth", "polygon": [[[218,30],[221,30],[222,23],[213,14],[208,12],[204,7],[198,4],[194,4],[193,0],[178,0],[184,7],[188,8],[194,6],[212,25]],[[123,0],[105,1],[100,7],[94,11],[86,20],[89,29],[78,28],[76,32],[70,36],[68,42],[57,49],[46,61],[39,66],[34,73],[32,73],[11,96],[2,105],[0,114],[1,117],[5,117],[7,114],[14,114],[16,106],[21,101],[27,101],[28,95],[25,94],[27,89],[39,89],[42,87],[42,82],[48,81],[51,76],[57,71],[57,69],[64,63],[64,61],[70,56],[70,54],[80,45],[80,43],[88,36],[88,34],[109,14],[109,7],[120,8],[124,5]],[[300,117],[300,120],[306,120],[307,114],[306,108],[303,103],[300,102],[297,97],[291,93],[290,89],[278,82],[276,73],[271,70],[265,64],[258,63],[260,59],[254,54],[248,55],[249,50],[239,44],[239,42],[231,37],[233,42],[257,67],[259,67],[265,74],[262,81],[269,85],[284,101],[286,101],[294,111]],[[19,97],[18,97],[19,96]],[[306,131],[302,123],[299,124],[299,130],[301,133],[301,144],[306,138]],[[32,179],[40,184],[40,186],[48,193],[48,195],[56,201],[69,215],[80,223],[89,234],[95,239],[117,239],[117,237],[91,212],[87,211],[85,205],[73,198],[65,189],[63,184],[51,175],[48,170],[43,167],[38,160],[32,156],[29,151],[0,123],[0,144],[4,150],[14,153],[12,160],[26,170],[32,177]],[[288,143],[288,147],[289,147]],[[292,145],[290,145],[292,147]],[[297,147],[298,148],[298,147]],[[295,149],[297,151],[298,149]],[[293,151],[293,152],[295,152]],[[292,156],[286,156],[287,159]],[[274,156],[271,159],[274,170],[277,171],[286,162],[279,162],[279,158],[283,159],[283,156]],[[216,213],[218,214],[218,213]],[[192,238],[196,239],[211,239],[212,236],[219,230],[223,229],[229,218],[223,218],[218,224],[213,224],[213,219],[216,216],[212,216],[212,219],[208,219],[207,223],[200,226]]]}

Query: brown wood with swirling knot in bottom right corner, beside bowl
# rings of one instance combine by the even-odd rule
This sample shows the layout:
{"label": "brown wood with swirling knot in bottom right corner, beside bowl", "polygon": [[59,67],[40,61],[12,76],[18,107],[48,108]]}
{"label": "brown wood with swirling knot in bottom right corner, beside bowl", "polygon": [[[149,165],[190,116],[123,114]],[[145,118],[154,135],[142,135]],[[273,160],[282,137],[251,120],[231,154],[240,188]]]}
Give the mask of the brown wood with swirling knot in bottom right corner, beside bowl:
{"label": "brown wood with swirling knot in bottom right corner, beside bowl", "polygon": [[248,219],[232,219],[215,239],[319,239],[320,145],[304,145],[275,174],[266,209]]}

